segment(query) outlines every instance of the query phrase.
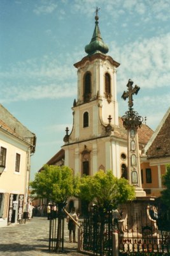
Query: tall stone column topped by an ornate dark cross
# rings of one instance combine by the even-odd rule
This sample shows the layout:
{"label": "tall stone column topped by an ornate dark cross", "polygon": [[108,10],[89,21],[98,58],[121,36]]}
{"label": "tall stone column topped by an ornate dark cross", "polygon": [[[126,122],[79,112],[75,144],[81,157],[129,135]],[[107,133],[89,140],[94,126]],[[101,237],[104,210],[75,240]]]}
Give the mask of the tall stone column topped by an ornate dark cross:
{"label": "tall stone column topped by an ornate dark cross", "polygon": [[140,90],[139,86],[132,86],[133,81],[129,79],[127,83],[128,90],[124,92],[122,98],[128,101],[129,111],[125,112],[122,116],[122,121],[125,129],[127,130],[127,169],[129,184],[135,187],[136,196],[146,196],[145,191],[141,186],[141,168],[139,159],[139,142],[138,142],[138,127],[141,127],[143,118],[132,109],[133,99],[132,96],[137,94]]}

